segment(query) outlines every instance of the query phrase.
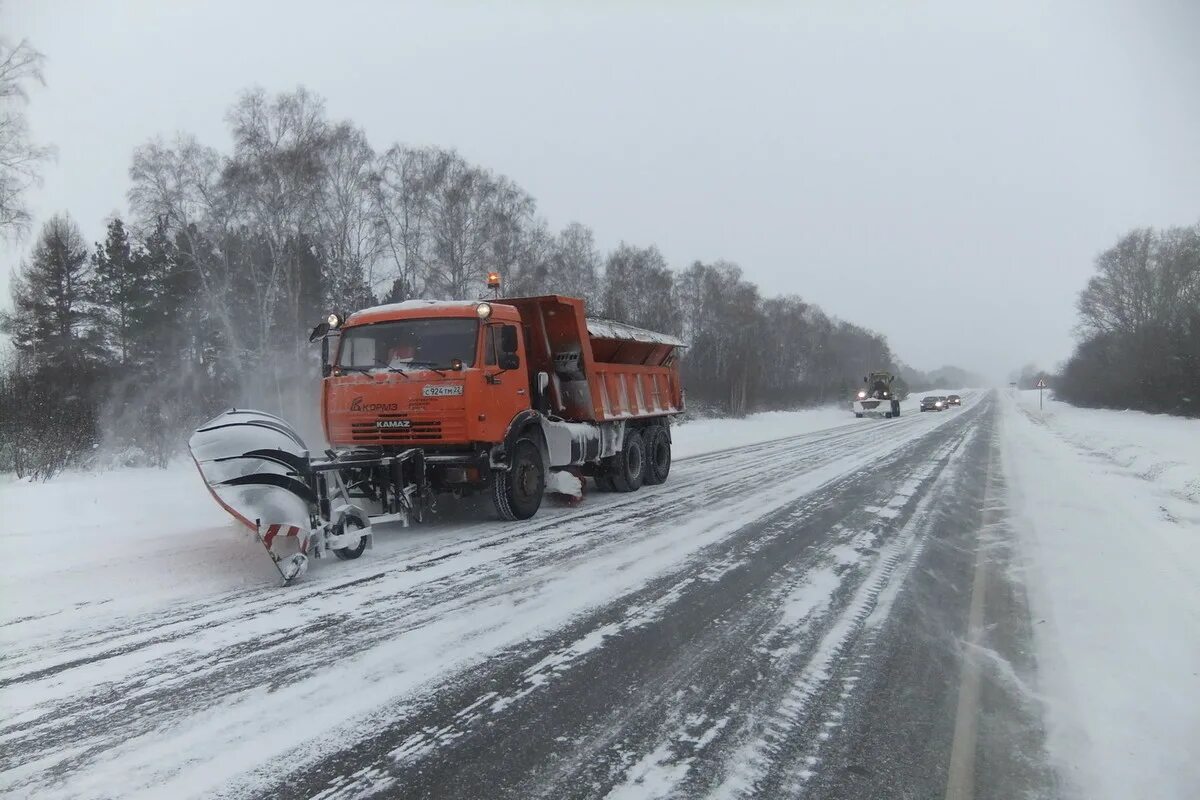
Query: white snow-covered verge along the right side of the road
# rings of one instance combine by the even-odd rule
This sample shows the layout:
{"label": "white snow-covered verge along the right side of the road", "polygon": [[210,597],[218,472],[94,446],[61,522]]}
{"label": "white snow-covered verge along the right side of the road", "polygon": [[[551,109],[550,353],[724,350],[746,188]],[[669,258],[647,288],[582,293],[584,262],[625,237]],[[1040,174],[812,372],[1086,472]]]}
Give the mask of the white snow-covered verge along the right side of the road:
{"label": "white snow-covered verge along the right side of the road", "polygon": [[1200,421],[1002,408],[1052,759],[1085,798],[1200,796]]}

